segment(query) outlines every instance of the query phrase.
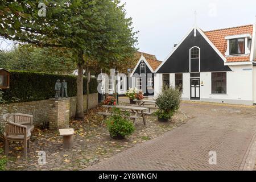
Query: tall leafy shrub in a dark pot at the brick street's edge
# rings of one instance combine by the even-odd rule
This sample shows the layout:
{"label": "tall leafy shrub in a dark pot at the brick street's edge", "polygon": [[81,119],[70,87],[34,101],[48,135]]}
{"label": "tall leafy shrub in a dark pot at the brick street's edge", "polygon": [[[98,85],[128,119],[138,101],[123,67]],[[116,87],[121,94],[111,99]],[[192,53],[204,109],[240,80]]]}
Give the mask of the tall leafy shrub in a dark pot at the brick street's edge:
{"label": "tall leafy shrub in a dark pot at the brick street's edge", "polygon": [[181,92],[179,88],[171,86],[170,88],[163,88],[162,92],[156,98],[156,105],[159,110],[155,112],[160,122],[168,122],[175,111],[180,107]]}

